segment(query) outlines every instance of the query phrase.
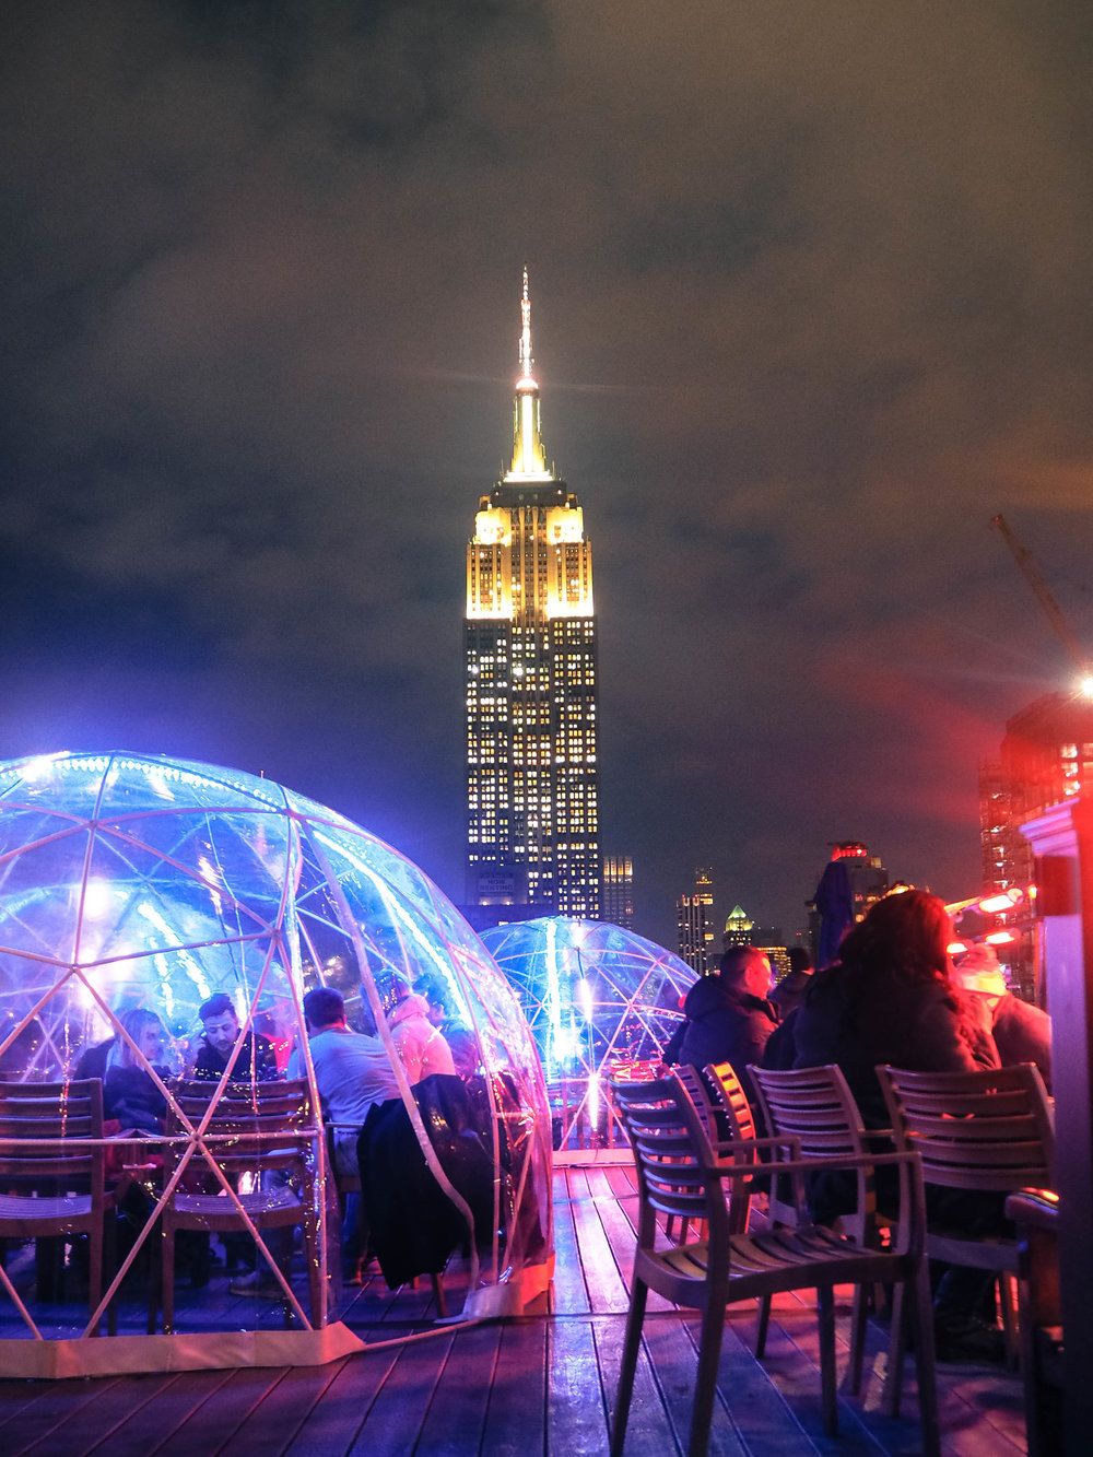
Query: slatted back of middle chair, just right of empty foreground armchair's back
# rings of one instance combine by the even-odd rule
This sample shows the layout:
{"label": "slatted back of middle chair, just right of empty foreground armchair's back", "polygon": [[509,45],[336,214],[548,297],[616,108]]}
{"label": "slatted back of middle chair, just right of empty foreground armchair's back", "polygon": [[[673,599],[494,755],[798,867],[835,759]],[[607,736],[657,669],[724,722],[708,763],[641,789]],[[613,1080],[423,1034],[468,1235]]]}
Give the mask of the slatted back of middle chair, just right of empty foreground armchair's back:
{"label": "slatted back of middle chair, just right of empty foreground armchair's back", "polygon": [[[799,1138],[802,1157],[845,1154],[858,1158],[876,1151],[841,1068],[829,1064],[788,1071],[752,1067],[749,1071],[767,1132]],[[873,1171],[867,1166],[857,1169],[855,1195],[855,1212],[844,1215],[842,1225],[855,1238],[866,1240],[876,1217]],[[777,1182],[771,1189],[771,1217],[783,1224],[797,1218]]]}

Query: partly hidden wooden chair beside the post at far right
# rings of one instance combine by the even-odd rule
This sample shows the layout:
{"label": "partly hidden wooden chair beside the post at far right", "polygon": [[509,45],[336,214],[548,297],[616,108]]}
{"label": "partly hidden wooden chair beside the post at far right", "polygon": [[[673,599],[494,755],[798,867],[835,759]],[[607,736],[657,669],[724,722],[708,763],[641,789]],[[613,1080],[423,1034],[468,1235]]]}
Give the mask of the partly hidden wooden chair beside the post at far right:
{"label": "partly hidden wooden chair beside the post at far right", "polygon": [[1062,1297],[1058,1249],[1059,1196],[1022,1189],[1006,1201],[1017,1227],[1022,1378],[1029,1457],[1062,1451]]}

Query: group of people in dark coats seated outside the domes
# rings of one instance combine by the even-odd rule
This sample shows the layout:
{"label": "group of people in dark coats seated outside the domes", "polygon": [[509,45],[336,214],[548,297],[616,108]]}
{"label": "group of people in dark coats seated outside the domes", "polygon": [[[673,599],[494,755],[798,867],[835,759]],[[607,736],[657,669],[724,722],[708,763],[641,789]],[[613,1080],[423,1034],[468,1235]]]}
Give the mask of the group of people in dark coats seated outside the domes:
{"label": "group of people in dark coats seated outside the domes", "polygon": [[[877,900],[844,937],[837,960],[818,972],[794,969],[777,988],[771,963],[751,946],[730,947],[720,972],[701,978],[683,1002],[683,1023],[665,1049],[669,1065],[701,1072],[730,1062],[749,1099],[751,1067],[837,1065],[864,1128],[890,1123],[879,1065],[921,1072],[972,1072],[1035,1064],[1051,1091],[1051,1018],[1006,986],[991,946],[971,946],[955,965],[944,903],[922,890]],[[850,1212],[850,1186],[813,1180],[813,1217]],[[1013,1234],[1004,1195],[927,1190],[931,1220],[969,1237]],[[931,1271],[939,1355],[1000,1359],[992,1319],[994,1278],[966,1266]]]}

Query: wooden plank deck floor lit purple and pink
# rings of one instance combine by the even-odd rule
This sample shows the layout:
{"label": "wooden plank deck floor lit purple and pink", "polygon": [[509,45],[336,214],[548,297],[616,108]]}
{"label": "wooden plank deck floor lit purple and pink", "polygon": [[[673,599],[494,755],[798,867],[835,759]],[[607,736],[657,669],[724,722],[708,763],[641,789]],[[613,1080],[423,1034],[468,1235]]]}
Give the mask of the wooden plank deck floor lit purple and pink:
{"label": "wooden plank deck floor lit purple and pink", "polygon": [[[627,1167],[555,1174],[558,1268],[552,1308],[522,1320],[428,1326],[427,1289],[354,1292],[347,1321],[369,1340],[408,1327],[424,1339],[319,1368],[203,1371],[103,1381],[0,1381],[0,1451],[83,1457],[204,1457],[227,1453],[463,1454],[603,1453],[632,1259],[635,1198]],[[848,1292],[847,1292],[848,1294]],[[845,1362],[848,1303],[839,1307]],[[711,1453],[914,1453],[914,1386],[905,1416],[877,1410],[883,1332],[870,1329],[861,1397],[841,1402],[837,1441],[820,1432],[815,1313],[775,1303],[767,1358],[751,1354],[752,1305],[726,1321]],[[697,1323],[650,1298],[646,1348],[627,1450],[682,1451],[695,1368]],[[966,1457],[1025,1451],[1014,1375],[941,1367],[944,1448]]]}

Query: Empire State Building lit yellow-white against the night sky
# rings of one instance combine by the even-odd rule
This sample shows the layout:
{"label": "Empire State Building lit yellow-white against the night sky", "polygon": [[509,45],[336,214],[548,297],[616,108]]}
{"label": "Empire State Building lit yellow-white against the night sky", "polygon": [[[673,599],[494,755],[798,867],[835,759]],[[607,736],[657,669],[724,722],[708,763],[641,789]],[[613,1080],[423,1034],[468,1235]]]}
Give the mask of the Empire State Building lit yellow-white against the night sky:
{"label": "Empire State Building lit yellow-white against the night sky", "polygon": [[526,268],[520,322],[512,468],[466,548],[466,898],[596,919],[592,546],[542,443]]}

